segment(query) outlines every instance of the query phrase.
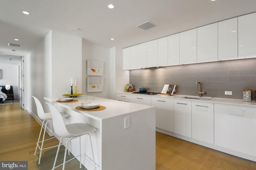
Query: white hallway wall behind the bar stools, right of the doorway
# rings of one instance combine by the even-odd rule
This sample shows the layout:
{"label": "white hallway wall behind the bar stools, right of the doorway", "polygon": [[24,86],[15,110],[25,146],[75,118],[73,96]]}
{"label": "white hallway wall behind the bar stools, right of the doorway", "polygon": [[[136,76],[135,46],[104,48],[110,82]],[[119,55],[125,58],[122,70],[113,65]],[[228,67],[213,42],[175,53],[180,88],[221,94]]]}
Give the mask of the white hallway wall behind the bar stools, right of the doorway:
{"label": "white hallway wall behind the bar stools, right of the doorway", "polygon": [[36,105],[31,96],[36,96],[42,103],[45,111],[44,96],[49,94],[51,88],[51,79],[49,75],[49,66],[46,59],[49,59],[51,51],[52,32],[48,33],[40,41],[29,55],[25,56],[25,109],[30,113],[37,115]]}

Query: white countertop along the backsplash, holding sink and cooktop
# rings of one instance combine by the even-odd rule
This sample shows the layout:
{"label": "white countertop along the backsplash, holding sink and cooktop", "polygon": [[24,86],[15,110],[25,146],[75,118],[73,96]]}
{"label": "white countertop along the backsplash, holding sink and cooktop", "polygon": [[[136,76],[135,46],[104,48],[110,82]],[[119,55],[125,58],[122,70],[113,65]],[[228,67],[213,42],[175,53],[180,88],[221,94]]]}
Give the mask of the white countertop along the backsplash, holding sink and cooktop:
{"label": "white countertop along the backsplash, holding sink and cooktop", "polygon": [[[211,100],[199,100],[199,99],[187,99],[184,98],[186,95],[176,95],[173,96],[167,96],[162,94],[156,94],[156,95],[147,95],[147,94],[132,94],[131,92],[118,92],[122,94],[131,94],[131,95],[144,95],[144,96],[150,96],[150,97],[156,97],[156,98],[172,98],[172,99],[179,99],[179,100],[190,100],[190,101],[196,101],[196,102],[209,102],[209,103],[216,103],[216,104],[230,104],[230,105],[236,105],[236,106],[248,106],[248,107],[256,107],[256,102],[254,100],[250,102],[244,102],[240,99],[228,99],[228,98],[212,98]],[[191,97],[199,97],[199,96],[191,96]],[[203,98],[203,97],[202,97]]]}

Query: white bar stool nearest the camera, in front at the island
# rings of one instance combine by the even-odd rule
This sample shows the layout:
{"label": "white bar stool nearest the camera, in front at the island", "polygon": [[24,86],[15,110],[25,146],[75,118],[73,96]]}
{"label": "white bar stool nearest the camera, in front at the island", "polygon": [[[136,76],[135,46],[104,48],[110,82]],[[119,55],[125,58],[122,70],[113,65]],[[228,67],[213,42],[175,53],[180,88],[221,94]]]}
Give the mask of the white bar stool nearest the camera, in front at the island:
{"label": "white bar stool nearest the camera, in front at the island", "polygon": [[[48,103],[46,103],[46,104],[48,104]],[[69,162],[70,160],[73,160],[74,158],[76,158],[78,156],[80,157],[80,168],[82,168],[82,165],[81,165],[81,136],[82,135],[88,135],[89,136],[90,143],[91,143],[91,149],[92,149],[93,162],[94,162],[94,170],[96,170],[94,153],[93,153],[93,148],[92,148],[92,139],[91,139],[90,133],[96,131],[97,129],[95,129],[94,127],[91,127],[90,125],[87,125],[86,123],[72,123],[72,124],[65,125],[64,121],[63,121],[63,118],[60,114],[60,111],[55,106],[53,106],[51,104],[48,104],[48,106],[50,107],[50,111],[52,113],[52,123],[53,123],[54,131],[58,136],[61,137],[52,170],[54,170],[54,168],[57,168],[61,165],[63,165],[62,170],[64,170],[66,162]],[[70,142],[72,139],[75,139],[77,137],[79,137],[80,153],[79,153],[78,156],[76,156],[74,158],[71,158],[70,160],[66,161],[68,142]],[[57,160],[57,157],[58,157],[58,153],[59,153],[59,150],[60,150],[60,145],[61,145],[61,139],[62,138],[68,138],[68,141],[66,142],[64,160],[63,160],[62,164],[60,164],[58,166],[55,166],[56,165],[56,160]]]}

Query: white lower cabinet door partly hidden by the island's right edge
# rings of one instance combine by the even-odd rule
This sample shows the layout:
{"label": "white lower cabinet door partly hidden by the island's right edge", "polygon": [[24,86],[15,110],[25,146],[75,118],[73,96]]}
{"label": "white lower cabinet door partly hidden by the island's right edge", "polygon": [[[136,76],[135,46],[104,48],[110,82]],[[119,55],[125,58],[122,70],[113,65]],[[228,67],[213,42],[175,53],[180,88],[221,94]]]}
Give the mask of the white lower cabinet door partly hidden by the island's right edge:
{"label": "white lower cabinet door partly hidden by the island's right edge", "polygon": [[156,106],[156,127],[173,132],[173,99],[152,97],[151,105]]}

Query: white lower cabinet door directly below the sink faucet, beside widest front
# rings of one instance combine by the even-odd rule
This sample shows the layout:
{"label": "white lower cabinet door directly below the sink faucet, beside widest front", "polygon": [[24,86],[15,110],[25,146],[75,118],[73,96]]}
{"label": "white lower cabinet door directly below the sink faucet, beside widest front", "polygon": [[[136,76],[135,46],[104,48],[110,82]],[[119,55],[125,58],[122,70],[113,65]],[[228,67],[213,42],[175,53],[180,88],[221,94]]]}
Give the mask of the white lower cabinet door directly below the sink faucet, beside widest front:
{"label": "white lower cabinet door directly below the sink faucet, beside widest front", "polygon": [[192,102],[192,138],[213,145],[214,104]]}

